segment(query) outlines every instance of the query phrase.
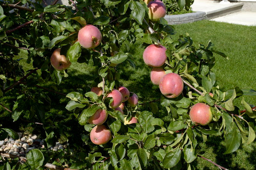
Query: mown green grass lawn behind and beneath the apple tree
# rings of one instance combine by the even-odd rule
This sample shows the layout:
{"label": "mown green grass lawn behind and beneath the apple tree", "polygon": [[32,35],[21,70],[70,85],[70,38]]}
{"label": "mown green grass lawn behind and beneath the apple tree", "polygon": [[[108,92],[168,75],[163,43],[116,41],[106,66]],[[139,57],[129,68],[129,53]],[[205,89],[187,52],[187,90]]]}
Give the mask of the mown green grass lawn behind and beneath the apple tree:
{"label": "mown green grass lawn behind and beneath the apple tree", "polygon": [[[175,25],[177,34],[173,36],[176,39],[179,34],[189,33],[189,35],[196,42],[207,45],[211,40],[215,44],[215,49],[225,53],[229,56],[230,60],[226,60],[221,56],[216,55],[216,65],[214,72],[217,75],[220,89],[228,90],[235,86],[240,88],[253,88],[256,90],[256,27],[254,26],[242,26],[235,24],[217,23],[212,21],[200,21],[192,24]],[[131,92],[136,93],[140,97],[141,102],[152,101],[160,98],[161,94],[158,86],[153,85],[150,82],[150,68],[147,67],[142,59],[144,48],[134,47],[134,63],[136,68],[130,66],[128,62],[118,66],[121,73],[121,83],[125,85]],[[23,57],[23,56],[18,56]],[[22,60],[25,63],[25,59]],[[28,70],[32,67],[31,64],[27,64],[24,70]],[[73,63],[71,68],[68,69],[69,77],[63,78],[58,88],[51,82],[45,82],[42,86],[54,89],[61,93],[69,93],[71,91],[83,91],[90,90],[92,85],[96,85],[98,80],[95,80],[95,74],[97,74],[96,67],[91,63]],[[42,89],[40,89],[42,90]],[[11,94],[11,93],[10,93]],[[49,94],[51,96],[57,96],[56,94]],[[6,103],[5,101],[6,100]],[[13,97],[5,97],[1,99],[1,103],[6,104],[7,107],[11,107],[7,104],[7,101],[15,100]],[[256,97],[245,97],[245,100],[249,104],[256,105]],[[67,99],[62,96],[54,97],[52,100],[52,106],[54,109],[50,109],[47,112],[49,119],[54,118],[56,115],[60,116],[61,121],[65,121],[67,125],[71,123],[77,124],[71,120],[72,116],[67,116],[67,119],[62,119],[61,115],[72,115],[65,109]],[[240,104],[236,101],[236,104]],[[241,105],[240,105],[241,106]],[[56,109],[57,108],[57,109]],[[149,109],[147,105],[141,105],[142,109]],[[12,108],[10,108],[12,109]],[[0,113],[5,110],[0,108]],[[6,112],[5,112],[6,113]],[[10,118],[10,113],[9,119]],[[166,111],[160,109],[157,113],[158,117],[163,120],[168,120]],[[1,117],[4,115],[1,114]],[[6,116],[8,117],[8,116]],[[9,123],[11,123],[10,120]],[[8,122],[6,121],[7,125]],[[20,130],[26,129],[23,121],[17,121],[15,126],[20,126]],[[21,127],[22,126],[22,127]],[[31,129],[33,124],[28,124]],[[83,130],[83,126],[81,131]],[[80,131],[77,130],[77,133]],[[12,128],[12,126],[10,127]],[[35,129],[32,128],[30,133],[33,133]],[[69,129],[68,129],[69,130]],[[35,132],[34,132],[35,133]],[[79,135],[79,134],[78,134]],[[225,151],[225,142],[220,136],[209,137],[206,143],[201,143],[198,146],[198,154],[211,159],[219,165],[235,170],[254,170],[256,169],[256,143],[249,146],[242,146],[236,152],[228,155],[223,155]],[[207,162],[202,158],[197,158],[193,163],[196,169],[200,170],[218,170],[216,166]]]}

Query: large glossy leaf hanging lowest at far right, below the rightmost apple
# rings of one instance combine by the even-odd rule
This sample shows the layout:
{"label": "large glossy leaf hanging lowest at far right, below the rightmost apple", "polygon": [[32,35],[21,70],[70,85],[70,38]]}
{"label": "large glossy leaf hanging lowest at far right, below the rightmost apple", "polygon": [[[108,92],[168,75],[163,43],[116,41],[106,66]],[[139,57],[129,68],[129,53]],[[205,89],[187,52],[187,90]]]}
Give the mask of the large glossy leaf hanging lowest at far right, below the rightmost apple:
{"label": "large glossy leaf hanging lowest at far right, below the rightmost apple", "polygon": [[227,132],[226,136],[226,151],[224,154],[230,154],[236,151],[241,143],[241,133],[235,122],[231,123],[230,129]]}

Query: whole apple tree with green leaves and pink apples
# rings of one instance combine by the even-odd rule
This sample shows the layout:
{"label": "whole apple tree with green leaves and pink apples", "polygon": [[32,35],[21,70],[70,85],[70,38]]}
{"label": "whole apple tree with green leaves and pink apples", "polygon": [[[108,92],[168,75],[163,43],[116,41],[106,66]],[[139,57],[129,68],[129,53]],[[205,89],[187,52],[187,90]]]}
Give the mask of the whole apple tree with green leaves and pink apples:
{"label": "whole apple tree with green leaves and pink apples", "polygon": [[[44,149],[30,151],[24,164],[12,162],[17,169],[42,169],[47,161],[56,164],[54,158],[60,159],[61,168],[71,169],[193,169],[199,138],[205,142],[209,135],[223,136],[224,154],[254,141],[255,107],[242,96],[255,91],[239,87],[221,91],[212,67],[215,57],[228,57],[211,42],[196,43],[187,34],[173,39],[175,30],[163,18],[163,2],[70,0],[70,6],[56,2],[0,1],[0,96],[15,97],[8,105],[12,110],[1,105],[13,121],[43,123],[49,147],[58,131],[65,136],[68,129],[61,121],[46,119],[46,112],[55,109],[50,104],[54,95],[62,95],[60,101],[67,101],[65,109],[82,131],[84,146],[76,146],[73,155],[73,151],[52,155]],[[178,0],[178,4],[189,9],[191,2]],[[145,49],[143,56],[133,55],[137,47]],[[30,64],[26,71],[17,57],[21,50]],[[120,65],[128,63],[135,69],[135,58],[161,72],[156,78],[153,72],[151,78],[159,85],[159,100],[142,103],[136,91],[122,83]],[[73,76],[69,66],[76,62],[97,68],[89,85],[93,88],[81,89],[85,80],[66,94],[56,92],[67,76]],[[54,82],[54,90],[43,86],[49,82]],[[235,98],[241,98],[243,109],[234,106]],[[158,110],[170,119],[162,120]],[[15,137],[13,131],[2,134]],[[3,163],[2,167],[11,167],[8,160]]]}

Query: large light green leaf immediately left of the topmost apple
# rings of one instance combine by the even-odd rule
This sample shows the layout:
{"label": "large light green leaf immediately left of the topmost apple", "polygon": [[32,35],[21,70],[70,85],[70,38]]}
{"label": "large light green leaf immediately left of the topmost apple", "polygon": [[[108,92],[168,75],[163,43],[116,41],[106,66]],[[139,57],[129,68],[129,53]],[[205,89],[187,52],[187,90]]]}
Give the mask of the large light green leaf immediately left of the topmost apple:
{"label": "large light green leaf immediately left of the topmost apple", "polygon": [[130,9],[132,10],[131,15],[134,20],[142,25],[145,16],[145,9],[143,5],[138,1],[132,0],[132,2],[130,3]]}

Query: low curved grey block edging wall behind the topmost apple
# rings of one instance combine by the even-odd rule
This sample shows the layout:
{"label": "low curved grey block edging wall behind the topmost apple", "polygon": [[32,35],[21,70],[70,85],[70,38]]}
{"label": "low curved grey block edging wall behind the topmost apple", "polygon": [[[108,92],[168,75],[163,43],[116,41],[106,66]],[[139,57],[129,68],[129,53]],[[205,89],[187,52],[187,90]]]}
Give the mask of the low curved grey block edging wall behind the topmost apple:
{"label": "low curved grey block edging wall behind the topmost apple", "polygon": [[206,12],[192,12],[179,15],[165,15],[164,19],[166,19],[168,24],[171,25],[193,23],[195,21],[205,20]]}

